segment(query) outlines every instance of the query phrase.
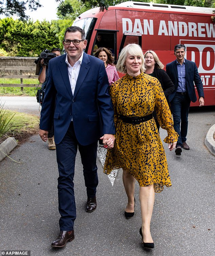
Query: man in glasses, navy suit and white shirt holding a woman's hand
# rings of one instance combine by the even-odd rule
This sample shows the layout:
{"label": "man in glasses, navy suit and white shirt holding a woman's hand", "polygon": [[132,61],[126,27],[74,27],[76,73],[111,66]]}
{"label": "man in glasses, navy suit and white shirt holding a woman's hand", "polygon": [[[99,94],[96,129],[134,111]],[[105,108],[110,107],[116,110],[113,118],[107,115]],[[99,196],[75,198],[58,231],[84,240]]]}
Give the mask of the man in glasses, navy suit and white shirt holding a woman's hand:
{"label": "man in glasses, navy suit and white shirt holding a woman's hand", "polygon": [[76,206],[73,177],[77,149],[87,193],[85,210],[93,212],[97,207],[98,138],[102,135],[104,145],[108,148],[114,146],[114,111],[104,63],[83,52],[86,44],[84,30],[67,28],[63,40],[66,54],[53,58],[48,65],[39,135],[47,141],[54,117],[61,217],[60,234],[52,242],[52,247],[63,247],[67,241],[74,239]]}

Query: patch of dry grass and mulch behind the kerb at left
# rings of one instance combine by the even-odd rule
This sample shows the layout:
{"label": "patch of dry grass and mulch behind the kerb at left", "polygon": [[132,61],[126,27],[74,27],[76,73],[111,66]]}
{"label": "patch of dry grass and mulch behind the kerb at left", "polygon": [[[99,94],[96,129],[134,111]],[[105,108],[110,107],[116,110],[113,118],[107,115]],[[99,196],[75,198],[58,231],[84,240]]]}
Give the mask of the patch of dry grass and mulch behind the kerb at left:
{"label": "patch of dry grass and mulch behind the kerb at left", "polygon": [[39,131],[39,117],[35,115],[29,115],[16,111],[6,110],[14,117],[12,118],[10,125],[11,128],[0,138],[0,143],[8,137],[14,137],[17,140],[18,145],[21,145],[27,139]]}

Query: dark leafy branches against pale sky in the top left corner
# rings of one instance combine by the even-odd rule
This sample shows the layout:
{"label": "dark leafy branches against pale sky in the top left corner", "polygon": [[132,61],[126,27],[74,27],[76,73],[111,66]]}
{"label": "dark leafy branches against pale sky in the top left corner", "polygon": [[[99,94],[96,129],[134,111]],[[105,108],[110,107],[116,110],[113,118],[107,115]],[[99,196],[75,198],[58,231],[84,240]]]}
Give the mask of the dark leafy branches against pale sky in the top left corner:
{"label": "dark leafy branches against pale sky in the top left corner", "polygon": [[26,5],[32,11],[42,6],[38,0],[0,0],[0,14],[6,17],[17,15],[21,20],[27,20]]}

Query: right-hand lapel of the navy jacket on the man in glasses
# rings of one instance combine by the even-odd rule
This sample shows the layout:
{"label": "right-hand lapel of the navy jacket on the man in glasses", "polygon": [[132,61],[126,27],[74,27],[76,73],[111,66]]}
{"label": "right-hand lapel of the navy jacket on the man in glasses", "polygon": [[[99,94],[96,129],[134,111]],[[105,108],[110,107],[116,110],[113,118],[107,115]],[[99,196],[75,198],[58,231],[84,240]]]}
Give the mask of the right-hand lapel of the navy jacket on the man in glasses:
{"label": "right-hand lapel of the navy jacket on the man in glasses", "polygon": [[77,82],[76,82],[76,85],[75,85],[75,91],[74,91],[74,95],[73,95],[73,98],[75,98],[75,96],[77,95],[78,93],[78,90],[80,89],[89,69],[90,69],[90,66],[88,65],[88,63],[90,62],[87,54],[84,52],[84,55],[83,55],[83,59],[82,59],[82,63],[81,63],[81,67],[80,67],[80,71],[79,71],[79,75],[78,75],[78,79],[77,79]]}

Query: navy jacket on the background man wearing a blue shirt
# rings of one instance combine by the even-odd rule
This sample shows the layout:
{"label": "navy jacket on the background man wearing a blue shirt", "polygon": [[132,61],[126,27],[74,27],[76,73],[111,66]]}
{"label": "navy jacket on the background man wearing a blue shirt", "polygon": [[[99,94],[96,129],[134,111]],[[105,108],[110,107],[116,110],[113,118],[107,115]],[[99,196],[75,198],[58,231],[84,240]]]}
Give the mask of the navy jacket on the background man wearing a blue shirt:
{"label": "navy jacket on the background man wearing a blue shirt", "polygon": [[[196,85],[196,89],[200,97],[204,97],[203,92],[203,84],[201,78],[198,73],[198,69],[196,63],[193,61],[185,60],[185,76],[186,76],[186,85],[187,85],[187,92],[191,99],[191,101],[195,102],[197,100],[194,83]],[[168,63],[166,66],[167,74],[174,83],[175,90],[173,93],[169,95],[169,101],[174,98],[177,88],[178,88],[178,69],[177,69],[177,61],[173,61]],[[194,82],[194,83],[193,83]]]}

